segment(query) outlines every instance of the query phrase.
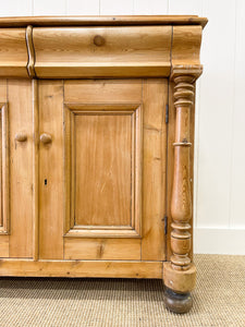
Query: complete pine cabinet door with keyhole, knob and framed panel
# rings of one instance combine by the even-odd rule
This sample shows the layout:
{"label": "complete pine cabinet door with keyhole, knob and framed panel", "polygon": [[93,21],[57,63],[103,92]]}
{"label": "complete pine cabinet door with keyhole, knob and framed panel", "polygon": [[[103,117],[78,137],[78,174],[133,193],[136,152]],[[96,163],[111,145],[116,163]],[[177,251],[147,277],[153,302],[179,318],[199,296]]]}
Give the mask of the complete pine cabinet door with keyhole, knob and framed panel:
{"label": "complete pine cabinet door with keyhole, knob and framed panel", "polygon": [[166,80],[39,83],[39,256],[162,261]]}

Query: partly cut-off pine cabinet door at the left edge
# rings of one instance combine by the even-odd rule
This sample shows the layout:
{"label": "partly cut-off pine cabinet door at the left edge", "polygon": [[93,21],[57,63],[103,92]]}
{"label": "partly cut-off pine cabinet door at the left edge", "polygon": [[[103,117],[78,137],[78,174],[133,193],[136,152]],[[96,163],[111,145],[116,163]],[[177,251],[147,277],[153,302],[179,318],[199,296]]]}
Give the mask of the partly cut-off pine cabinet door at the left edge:
{"label": "partly cut-off pine cabinet door at the left edge", "polygon": [[33,257],[32,100],[32,81],[0,80],[0,257]]}

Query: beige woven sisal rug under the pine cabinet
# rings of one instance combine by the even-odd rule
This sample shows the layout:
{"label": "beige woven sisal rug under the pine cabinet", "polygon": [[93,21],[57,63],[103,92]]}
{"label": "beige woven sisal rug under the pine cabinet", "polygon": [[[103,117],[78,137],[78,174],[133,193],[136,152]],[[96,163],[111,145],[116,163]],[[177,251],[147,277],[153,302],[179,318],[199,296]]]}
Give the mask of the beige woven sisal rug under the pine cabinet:
{"label": "beige woven sisal rug under the pine cabinet", "polygon": [[170,313],[159,280],[0,278],[0,327],[245,327],[245,256],[195,255],[194,306]]}

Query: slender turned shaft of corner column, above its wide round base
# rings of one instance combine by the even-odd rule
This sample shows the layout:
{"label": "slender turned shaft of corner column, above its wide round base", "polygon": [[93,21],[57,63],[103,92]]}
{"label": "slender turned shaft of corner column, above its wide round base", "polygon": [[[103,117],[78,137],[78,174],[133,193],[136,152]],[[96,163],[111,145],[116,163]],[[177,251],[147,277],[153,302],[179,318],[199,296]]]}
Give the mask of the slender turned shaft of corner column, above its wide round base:
{"label": "slender turned shaft of corner column, above its wide round base", "polygon": [[194,104],[195,77],[180,75],[174,78],[174,106],[176,109],[173,189],[171,198],[171,265],[175,270],[187,270],[191,258],[191,110]]}

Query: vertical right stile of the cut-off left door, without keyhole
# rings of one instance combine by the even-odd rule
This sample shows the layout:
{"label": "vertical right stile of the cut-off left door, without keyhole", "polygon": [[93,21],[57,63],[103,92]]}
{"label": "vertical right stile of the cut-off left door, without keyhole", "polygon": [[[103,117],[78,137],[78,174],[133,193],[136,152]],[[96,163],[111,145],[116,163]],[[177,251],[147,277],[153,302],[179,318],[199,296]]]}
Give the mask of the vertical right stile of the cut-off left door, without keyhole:
{"label": "vertical right stile of the cut-off left door, without keyhole", "polygon": [[[32,81],[8,81],[10,120],[10,257],[33,255]],[[16,142],[25,133],[27,142]]]}

